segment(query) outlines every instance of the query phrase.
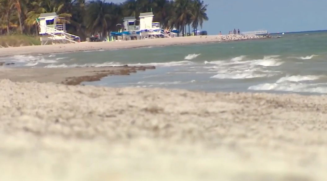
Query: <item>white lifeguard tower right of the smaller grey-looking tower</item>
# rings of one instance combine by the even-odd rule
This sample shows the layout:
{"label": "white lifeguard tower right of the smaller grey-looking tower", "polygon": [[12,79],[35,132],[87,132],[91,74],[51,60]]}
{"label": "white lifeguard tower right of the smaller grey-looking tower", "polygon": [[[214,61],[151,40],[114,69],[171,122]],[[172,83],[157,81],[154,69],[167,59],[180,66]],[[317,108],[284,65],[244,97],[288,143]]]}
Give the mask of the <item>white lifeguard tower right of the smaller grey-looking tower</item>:
{"label": "white lifeguard tower right of the smaller grey-looking tower", "polygon": [[161,29],[159,22],[152,22],[153,16],[152,12],[140,13],[141,37],[146,37],[148,35],[162,35],[163,37],[171,38],[170,31]]}

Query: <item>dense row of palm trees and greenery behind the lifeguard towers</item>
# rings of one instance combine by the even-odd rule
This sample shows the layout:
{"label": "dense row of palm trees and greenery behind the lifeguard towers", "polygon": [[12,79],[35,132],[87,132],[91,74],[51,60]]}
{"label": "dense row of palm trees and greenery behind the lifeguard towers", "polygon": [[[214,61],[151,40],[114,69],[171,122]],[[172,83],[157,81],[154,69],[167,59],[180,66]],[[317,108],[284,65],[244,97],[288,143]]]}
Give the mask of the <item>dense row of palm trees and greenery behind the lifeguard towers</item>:
{"label": "dense row of palm trees and greenery behind the lifeguard towers", "polygon": [[12,33],[37,36],[36,18],[46,12],[56,12],[60,17],[65,17],[67,31],[80,36],[82,40],[91,34],[106,36],[118,30],[116,24],[122,24],[124,17],[138,17],[141,12],[149,11],[153,12],[154,21],[160,22],[163,29],[177,28],[184,35],[187,27],[188,32],[190,26],[195,30],[202,27],[203,21],[208,20],[206,10],[207,5],[202,0],[126,0],[124,3],[100,0],[0,0],[0,37]]}

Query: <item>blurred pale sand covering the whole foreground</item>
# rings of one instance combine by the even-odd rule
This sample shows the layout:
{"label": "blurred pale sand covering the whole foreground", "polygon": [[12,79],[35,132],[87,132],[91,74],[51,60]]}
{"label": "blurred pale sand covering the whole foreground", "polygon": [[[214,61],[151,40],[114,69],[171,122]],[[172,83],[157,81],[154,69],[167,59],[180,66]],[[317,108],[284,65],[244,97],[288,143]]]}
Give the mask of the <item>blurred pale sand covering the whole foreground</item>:
{"label": "blurred pale sand covering the whole foreground", "polygon": [[0,180],[327,180],[326,96],[9,80],[0,95]]}

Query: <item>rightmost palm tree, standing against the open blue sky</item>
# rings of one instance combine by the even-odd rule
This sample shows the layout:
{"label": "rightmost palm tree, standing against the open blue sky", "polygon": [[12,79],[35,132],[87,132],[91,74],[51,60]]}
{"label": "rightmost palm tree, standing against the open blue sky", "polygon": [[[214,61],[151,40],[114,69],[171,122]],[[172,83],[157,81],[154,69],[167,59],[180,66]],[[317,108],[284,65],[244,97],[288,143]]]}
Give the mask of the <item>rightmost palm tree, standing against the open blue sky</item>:
{"label": "rightmost palm tree, standing against the open blue sky", "polygon": [[194,30],[198,30],[198,26],[202,28],[203,21],[208,21],[209,18],[207,16],[207,7],[208,5],[204,5],[203,1],[200,0],[194,0],[194,3],[192,5],[192,12],[193,12],[193,23],[192,27]]}

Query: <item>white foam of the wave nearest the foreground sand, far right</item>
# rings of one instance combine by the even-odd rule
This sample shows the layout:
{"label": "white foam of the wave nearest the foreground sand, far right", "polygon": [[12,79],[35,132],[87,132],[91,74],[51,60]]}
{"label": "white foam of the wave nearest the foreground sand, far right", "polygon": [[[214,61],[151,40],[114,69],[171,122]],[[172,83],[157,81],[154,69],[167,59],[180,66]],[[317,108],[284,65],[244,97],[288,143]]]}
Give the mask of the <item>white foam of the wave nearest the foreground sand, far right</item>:
{"label": "white foam of the wave nearest the foreground sand, far right", "polygon": [[263,83],[250,86],[249,90],[274,90],[286,92],[310,92],[310,93],[327,93],[327,85],[322,83]]}

